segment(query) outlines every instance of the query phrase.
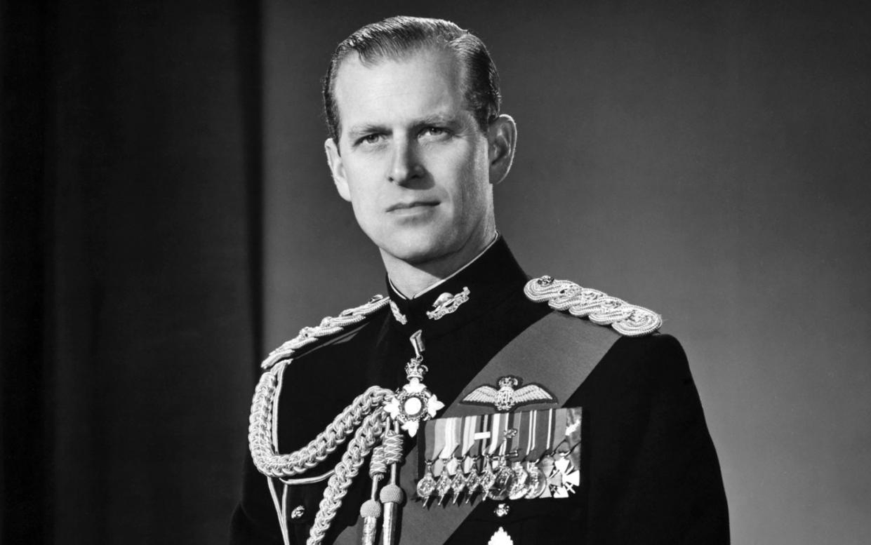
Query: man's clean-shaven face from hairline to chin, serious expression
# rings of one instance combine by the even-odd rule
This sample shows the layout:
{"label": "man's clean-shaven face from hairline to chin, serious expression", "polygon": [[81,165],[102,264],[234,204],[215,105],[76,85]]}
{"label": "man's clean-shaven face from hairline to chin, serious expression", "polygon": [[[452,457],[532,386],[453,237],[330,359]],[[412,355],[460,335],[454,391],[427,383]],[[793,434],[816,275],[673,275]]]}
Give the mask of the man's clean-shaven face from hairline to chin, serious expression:
{"label": "man's clean-shaven face from hairline to chin, serious expression", "polygon": [[440,50],[340,65],[341,134],[338,149],[327,140],[327,156],[384,259],[424,266],[456,256],[462,265],[495,233],[488,136],[463,100],[462,76]]}

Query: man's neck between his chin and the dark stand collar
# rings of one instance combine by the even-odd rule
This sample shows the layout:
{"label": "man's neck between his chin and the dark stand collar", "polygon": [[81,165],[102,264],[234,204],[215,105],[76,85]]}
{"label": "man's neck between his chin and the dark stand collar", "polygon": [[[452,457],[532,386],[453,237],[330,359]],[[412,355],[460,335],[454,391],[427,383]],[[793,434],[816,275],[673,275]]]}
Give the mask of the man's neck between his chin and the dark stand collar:
{"label": "man's neck between his chin and the dark stand collar", "polygon": [[381,251],[381,259],[384,261],[384,268],[387,270],[390,282],[396,291],[408,299],[412,299],[469,264],[494,240],[496,240],[495,228],[478,240],[476,244],[467,245],[458,252],[449,253],[426,263],[408,263],[383,251]]}

